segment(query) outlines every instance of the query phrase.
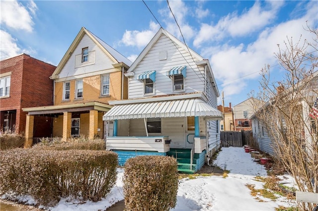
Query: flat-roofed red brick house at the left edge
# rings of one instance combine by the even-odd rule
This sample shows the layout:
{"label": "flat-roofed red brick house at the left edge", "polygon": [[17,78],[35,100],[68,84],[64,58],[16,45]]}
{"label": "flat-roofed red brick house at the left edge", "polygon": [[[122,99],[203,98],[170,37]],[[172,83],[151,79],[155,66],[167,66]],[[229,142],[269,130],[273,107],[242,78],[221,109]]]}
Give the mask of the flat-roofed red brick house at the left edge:
{"label": "flat-roofed red brick house at the left edge", "polygon": [[[23,107],[53,105],[53,81],[56,66],[25,53],[0,61],[0,127],[23,134],[27,112]],[[35,116],[36,136],[50,135],[50,122]]]}

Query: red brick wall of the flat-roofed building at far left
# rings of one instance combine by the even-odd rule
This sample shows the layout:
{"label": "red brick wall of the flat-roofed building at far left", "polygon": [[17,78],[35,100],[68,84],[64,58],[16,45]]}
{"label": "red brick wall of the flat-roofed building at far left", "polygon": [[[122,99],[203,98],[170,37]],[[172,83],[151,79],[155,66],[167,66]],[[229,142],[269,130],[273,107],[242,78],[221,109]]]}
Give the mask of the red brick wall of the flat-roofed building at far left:
{"label": "red brick wall of the flat-roofed building at far left", "polygon": [[[25,130],[27,112],[23,107],[53,105],[53,80],[49,77],[56,66],[21,54],[0,61],[0,73],[11,72],[10,97],[2,98],[0,110],[16,109],[16,129]],[[3,120],[1,119],[1,127]],[[42,130],[40,128],[37,130]]]}

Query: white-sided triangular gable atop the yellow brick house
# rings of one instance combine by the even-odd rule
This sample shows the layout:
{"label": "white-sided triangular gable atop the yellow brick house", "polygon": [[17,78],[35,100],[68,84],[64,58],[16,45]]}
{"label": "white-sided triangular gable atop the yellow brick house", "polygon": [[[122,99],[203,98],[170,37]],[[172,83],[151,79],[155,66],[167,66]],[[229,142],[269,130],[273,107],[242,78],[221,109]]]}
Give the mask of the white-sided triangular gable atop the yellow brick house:
{"label": "white-sided triangular gable atop the yellow brick house", "polygon": [[[81,62],[81,52],[88,47],[88,62]],[[59,73],[59,78],[77,76],[113,68],[114,61],[87,35],[84,34],[78,46]]]}

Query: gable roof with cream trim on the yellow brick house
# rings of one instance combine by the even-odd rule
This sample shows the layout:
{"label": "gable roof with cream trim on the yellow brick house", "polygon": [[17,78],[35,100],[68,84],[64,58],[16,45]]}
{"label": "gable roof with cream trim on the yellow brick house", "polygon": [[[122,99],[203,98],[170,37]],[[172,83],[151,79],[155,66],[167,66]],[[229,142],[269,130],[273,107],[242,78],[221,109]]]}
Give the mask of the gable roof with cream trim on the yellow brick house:
{"label": "gable roof with cream trim on the yellow brick house", "polygon": [[76,38],[74,39],[73,43],[71,44],[70,48],[68,49],[68,51],[64,54],[62,60],[60,61],[60,63],[58,64],[57,68],[55,69],[55,71],[53,72],[51,78],[58,78],[58,74],[61,72],[61,70],[63,69],[64,65],[66,64],[66,62],[69,60],[69,58],[72,56],[74,50],[77,48],[77,46],[79,45],[79,42],[81,41],[81,39],[83,38],[84,35],[87,35],[90,39],[93,40],[93,42],[96,43],[97,46],[99,46],[101,48],[101,50],[106,53],[110,59],[112,59],[114,61],[114,63],[123,63],[123,65],[125,65],[127,68],[132,64],[132,62],[126,58],[125,56],[123,56],[122,54],[120,54],[119,52],[117,52],[115,49],[113,49],[112,47],[110,47],[109,45],[107,45],[104,41],[102,41],[101,39],[99,39],[97,36],[95,36],[93,33],[91,33],[90,31],[88,31],[87,29],[85,29],[84,27],[81,27],[78,35],[76,36]]}

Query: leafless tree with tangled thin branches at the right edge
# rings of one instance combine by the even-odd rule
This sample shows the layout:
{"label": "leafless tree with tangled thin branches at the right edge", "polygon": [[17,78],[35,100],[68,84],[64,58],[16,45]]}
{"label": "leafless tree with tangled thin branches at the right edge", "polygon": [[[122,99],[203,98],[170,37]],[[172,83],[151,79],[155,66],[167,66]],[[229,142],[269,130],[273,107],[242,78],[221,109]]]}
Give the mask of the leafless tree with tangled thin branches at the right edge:
{"label": "leafless tree with tangled thin branches at the right edge", "polygon": [[[287,37],[283,48],[278,45],[275,56],[285,71],[283,79],[271,81],[266,66],[259,92],[251,95],[260,100],[254,101],[255,116],[272,140],[275,158],[294,176],[300,191],[318,193],[318,114],[313,111],[318,97],[318,31],[307,30],[312,41]],[[311,203],[299,206],[314,209]]]}

